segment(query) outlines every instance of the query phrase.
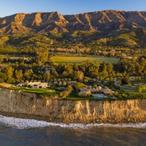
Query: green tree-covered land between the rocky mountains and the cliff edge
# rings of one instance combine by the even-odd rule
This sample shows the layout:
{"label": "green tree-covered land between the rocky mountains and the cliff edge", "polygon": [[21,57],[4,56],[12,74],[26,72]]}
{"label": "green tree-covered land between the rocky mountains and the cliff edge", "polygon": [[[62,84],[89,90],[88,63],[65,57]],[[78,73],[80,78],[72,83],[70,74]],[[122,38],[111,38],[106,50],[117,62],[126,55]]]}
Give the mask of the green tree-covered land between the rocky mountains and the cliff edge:
{"label": "green tree-covered land between the rocky mountains and the cliff edge", "polygon": [[[14,85],[27,81],[47,82],[51,90],[64,98],[88,98],[89,91],[87,95],[80,91],[89,86],[108,87],[117,98],[146,97],[144,30],[89,42],[72,37],[75,38],[68,40],[64,35],[61,38],[34,33],[0,36],[0,82]],[[28,90],[23,88],[23,91]],[[28,92],[48,93],[49,89],[38,90]]]}

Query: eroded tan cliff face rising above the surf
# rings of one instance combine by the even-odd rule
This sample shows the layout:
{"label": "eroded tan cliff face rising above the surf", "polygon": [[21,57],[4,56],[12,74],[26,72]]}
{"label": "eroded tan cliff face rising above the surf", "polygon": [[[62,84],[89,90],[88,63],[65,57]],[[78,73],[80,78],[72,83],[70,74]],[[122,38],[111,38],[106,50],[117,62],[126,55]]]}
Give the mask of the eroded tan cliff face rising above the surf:
{"label": "eroded tan cliff face rising above the surf", "polygon": [[146,100],[70,101],[0,89],[0,112],[44,117],[55,122],[144,122]]}

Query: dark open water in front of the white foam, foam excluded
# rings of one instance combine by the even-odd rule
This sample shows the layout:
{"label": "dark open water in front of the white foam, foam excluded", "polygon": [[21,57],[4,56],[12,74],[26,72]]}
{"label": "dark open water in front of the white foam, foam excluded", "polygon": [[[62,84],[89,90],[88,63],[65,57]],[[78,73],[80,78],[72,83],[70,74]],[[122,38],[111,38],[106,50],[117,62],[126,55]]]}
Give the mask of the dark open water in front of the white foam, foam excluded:
{"label": "dark open water in front of the white foam, foam excluded", "polygon": [[0,126],[0,146],[146,146],[146,129]]}

